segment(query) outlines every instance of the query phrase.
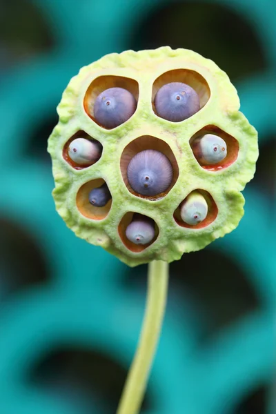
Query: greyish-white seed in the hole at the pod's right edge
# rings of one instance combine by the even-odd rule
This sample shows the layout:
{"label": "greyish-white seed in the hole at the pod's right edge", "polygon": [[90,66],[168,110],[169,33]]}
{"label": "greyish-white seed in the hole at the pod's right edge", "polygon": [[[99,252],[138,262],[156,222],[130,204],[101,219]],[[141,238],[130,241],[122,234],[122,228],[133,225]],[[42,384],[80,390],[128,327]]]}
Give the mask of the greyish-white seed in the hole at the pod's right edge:
{"label": "greyish-white seed in the hole at the pod's right edge", "polygon": [[217,164],[227,155],[226,142],[213,134],[206,134],[195,139],[192,148],[195,157],[203,165]]}

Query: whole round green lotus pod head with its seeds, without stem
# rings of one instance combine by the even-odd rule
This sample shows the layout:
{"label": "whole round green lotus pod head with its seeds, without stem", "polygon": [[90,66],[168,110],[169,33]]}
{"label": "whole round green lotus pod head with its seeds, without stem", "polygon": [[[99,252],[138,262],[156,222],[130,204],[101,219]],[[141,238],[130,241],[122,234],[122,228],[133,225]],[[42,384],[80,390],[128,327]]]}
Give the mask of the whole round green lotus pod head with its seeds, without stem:
{"label": "whole round green lotus pod head with its seeds, without stem", "polygon": [[[184,83],[197,98],[194,101],[186,89],[184,98],[176,99],[174,106],[170,83]],[[105,106],[100,95],[114,88],[129,93],[105,92],[103,95],[110,98],[110,105]],[[181,92],[177,88],[173,91]],[[181,111],[174,112],[173,108],[188,97],[193,110],[184,112],[188,117],[179,122]],[[113,98],[119,106],[111,105]],[[190,103],[185,111],[190,110]],[[179,108],[182,110],[181,105]],[[183,253],[204,248],[239,224],[244,214],[241,191],[255,172],[257,132],[239,112],[237,90],[228,76],[210,59],[192,50],[169,47],[106,55],[72,78],[63,92],[58,113],[59,123],[48,141],[55,178],[53,197],[58,213],[77,236],[101,246],[129,266],[137,266],[155,259],[180,259]],[[163,119],[168,114],[177,120]],[[81,131],[99,141],[103,152],[89,168],[68,168],[63,149]],[[205,168],[191,150],[197,137],[210,132],[227,144],[227,157],[218,163],[219,168]],[[206,161],[205,146],[201,147]],[[108,190],[106,186],[105,191],[99,187],[103,180]],[[189,195],[195,190],[206,199],[208,215],[194,226],[181,219],[180,207],[187,201],[183,203],[182,216],[189,220],[184,210],[192,202]],[[90,204],[91,194],[101,191],[103,201],[96,201],[97,205],[103,205],[111,196],[112,203],[110,200],[102,207]],[[202,208],[197,208],[201,214],[204,204]],[[148,244],[129,242],[126,229],[133,212],[152,217],[158,237]],[[132,222],[135,218],[136,215]],[[135,233],[131,231],[129,237]]]}

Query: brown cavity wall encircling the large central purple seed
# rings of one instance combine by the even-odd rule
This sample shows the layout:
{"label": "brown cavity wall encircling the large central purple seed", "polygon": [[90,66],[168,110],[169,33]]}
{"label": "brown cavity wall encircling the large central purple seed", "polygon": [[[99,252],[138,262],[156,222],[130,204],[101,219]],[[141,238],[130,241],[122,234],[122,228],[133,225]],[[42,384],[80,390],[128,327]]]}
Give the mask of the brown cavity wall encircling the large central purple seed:
{"label": "brown cavity wall encircling the large central purple seed", "polygon": [[[132,159],[138,152],[141,152],[143,150],[160,151],[164,155],[166,155],[166,157],[168,157],[170,164],[172,164],[172,171],[173,171],[172,182],[168,190],[166,190],[166,192],[158,194],[158,195],[154,195],[154,196],[147,196],[147,195],[141,195],[139,193],[136,193],[135,190],[133,190],[130,187],[130,184],[128,183],[128,177],[127,177],[128,164],[130,163],[130,159]],[[170,148],[170,146],[165,141],[163,141],[163,139],[151,137],[150,135],[143,135],[141,137],[133,139],[133,141],[131,141],[124,148],[121,154],[120,168],[121,168],[121,175],[124,179],[124,183],[126,184],[126,188],[128,188],[128,191],[132,193],[133,195],[136,195],[137,197],[149,199],[152,201],[166,197],[166,195],[170,192],[172,187],[177,182],[177,178],[179,176],[179,168],[177,164],[177,159],[175,158],[175,155],[172,152],[172,149]]]}

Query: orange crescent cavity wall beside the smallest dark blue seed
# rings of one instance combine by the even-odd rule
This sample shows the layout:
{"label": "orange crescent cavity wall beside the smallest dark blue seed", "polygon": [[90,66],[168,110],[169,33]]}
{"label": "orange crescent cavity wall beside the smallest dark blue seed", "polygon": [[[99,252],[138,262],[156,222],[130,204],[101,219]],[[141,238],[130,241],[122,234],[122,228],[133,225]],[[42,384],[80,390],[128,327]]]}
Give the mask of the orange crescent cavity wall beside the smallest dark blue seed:
{"label": "orange crescent cavity wall beside the smallest dark blue seed", "polygon": [[105,183],[104,179],[97,178],[88,181],[86,184],[83,184],[81,188],[79,188],[76,197],[77,208],[79,213],[84,217],[92,220],[103,220],[108,216],[110,212],[112,198],[108,201],[106,206],[103,207],[95,207],[92,206],[89,202],[89,193],[93,188],[102,186]]}

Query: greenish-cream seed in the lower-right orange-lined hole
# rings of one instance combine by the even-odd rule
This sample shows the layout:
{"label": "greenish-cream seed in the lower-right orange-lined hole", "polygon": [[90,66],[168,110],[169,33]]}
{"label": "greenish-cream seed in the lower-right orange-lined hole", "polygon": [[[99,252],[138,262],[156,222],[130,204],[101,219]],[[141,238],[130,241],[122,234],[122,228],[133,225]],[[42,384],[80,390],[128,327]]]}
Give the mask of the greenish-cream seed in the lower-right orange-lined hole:
{"label": "greenish-cream seed in the lower-right orange-lined hole", "polygon": [[180,216],[185,223],[195,226],[206,219],[208,205],[198,191],[193,191],[180,206]]}

